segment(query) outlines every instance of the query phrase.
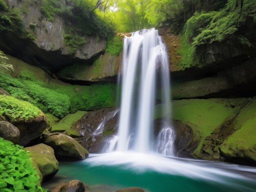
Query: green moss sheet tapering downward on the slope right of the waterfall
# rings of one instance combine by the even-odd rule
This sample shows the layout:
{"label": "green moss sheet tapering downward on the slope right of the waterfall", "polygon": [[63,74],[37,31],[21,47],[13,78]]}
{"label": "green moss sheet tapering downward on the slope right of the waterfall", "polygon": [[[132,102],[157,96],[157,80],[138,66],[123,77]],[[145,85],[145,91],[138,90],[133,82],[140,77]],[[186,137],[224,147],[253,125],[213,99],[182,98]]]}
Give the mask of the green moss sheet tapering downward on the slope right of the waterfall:
{"label": "green moss sheet tapering downward on the slope right of the waterfall", "polygon": [[[202,148],[204,138],[210,136],[214,129],[234,118],[246,99],[188,99],[173,101],[173,120],[180,120],[185,125],[191,123],[193,132],[199,132],[201,141],[194,154]],[[188,124],[187,124],[188,125]]]}

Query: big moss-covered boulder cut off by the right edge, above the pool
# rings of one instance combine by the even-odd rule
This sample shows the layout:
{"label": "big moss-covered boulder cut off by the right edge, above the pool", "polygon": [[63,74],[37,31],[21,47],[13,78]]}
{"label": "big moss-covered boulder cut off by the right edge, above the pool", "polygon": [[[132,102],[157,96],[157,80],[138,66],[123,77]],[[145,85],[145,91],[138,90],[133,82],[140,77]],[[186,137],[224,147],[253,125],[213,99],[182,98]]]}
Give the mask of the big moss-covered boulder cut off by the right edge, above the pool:
{"label": "big moss-covered boulder cut off by the right edge, above the pool", "polygon": [[235,132],[220,145],[220,151],[229,161],[256,165],[256,100],[246,105],[234,120]]}

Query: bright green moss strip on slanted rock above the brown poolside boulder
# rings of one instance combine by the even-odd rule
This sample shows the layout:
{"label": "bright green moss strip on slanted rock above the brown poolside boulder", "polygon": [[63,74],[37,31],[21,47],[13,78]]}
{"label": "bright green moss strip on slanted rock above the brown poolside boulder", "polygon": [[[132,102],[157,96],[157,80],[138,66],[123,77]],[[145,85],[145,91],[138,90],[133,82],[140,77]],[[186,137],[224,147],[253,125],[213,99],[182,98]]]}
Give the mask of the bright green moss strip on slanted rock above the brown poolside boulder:
{"label": "bright green moss strip on slanted rock above the brown poolside boulder", "polygon": [[76,121],[81,119],[86,112],[83,111],[77,111],[74,114],[68,114],[63,119],[61,119],[58,123],[52,124],[52,130],[51,132],[64,132],[67,129],[70,129]]}

